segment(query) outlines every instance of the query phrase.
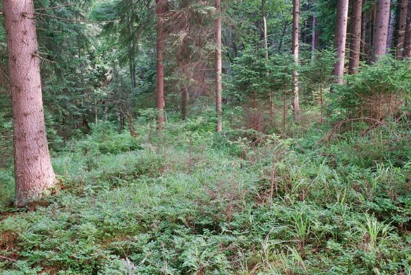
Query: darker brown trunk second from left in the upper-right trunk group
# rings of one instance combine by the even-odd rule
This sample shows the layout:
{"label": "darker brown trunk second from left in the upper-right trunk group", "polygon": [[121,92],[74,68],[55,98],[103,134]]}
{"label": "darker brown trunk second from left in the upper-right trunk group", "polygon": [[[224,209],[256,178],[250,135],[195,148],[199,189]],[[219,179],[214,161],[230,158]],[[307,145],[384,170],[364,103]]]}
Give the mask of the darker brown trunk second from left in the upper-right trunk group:
{"label": "darker brown trunk second from left in the upper-right trunk group", "polygon": [[360,46],[361,46],[361,23],[362,23],[362,0],[353,0],[353,10],[351,16],[351,45],[349,74],[358,72],[360,64]]}

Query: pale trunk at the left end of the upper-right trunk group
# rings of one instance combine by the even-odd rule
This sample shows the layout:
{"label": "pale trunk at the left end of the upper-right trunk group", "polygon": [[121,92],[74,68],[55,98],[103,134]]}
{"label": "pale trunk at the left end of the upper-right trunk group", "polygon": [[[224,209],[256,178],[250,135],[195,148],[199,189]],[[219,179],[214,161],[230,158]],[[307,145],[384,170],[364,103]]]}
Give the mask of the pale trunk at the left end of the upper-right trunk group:
{"label": "pale trunk at the left end of the upper-right trunk group", "polygon": [[342,84],[342,76],[344,75],[345,42],[347,41],[348,6],[348,0],[338,0],[336,37],[334,40],[334,47],[336,48],[338,61],[334,65],[333,70],[333,74],[334,76],[336,76],[336,82],[338,84]]}

